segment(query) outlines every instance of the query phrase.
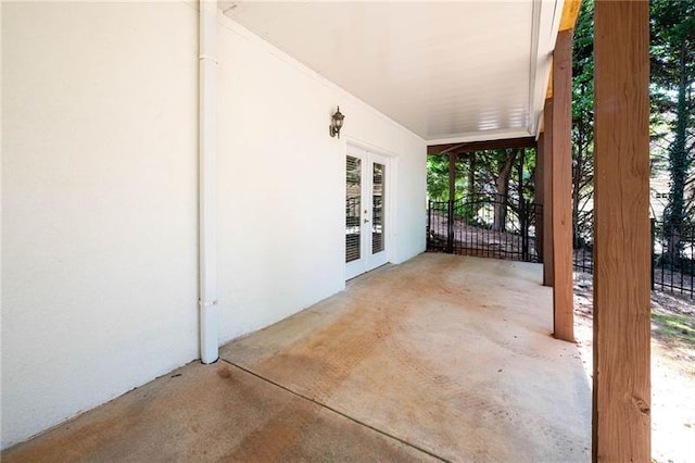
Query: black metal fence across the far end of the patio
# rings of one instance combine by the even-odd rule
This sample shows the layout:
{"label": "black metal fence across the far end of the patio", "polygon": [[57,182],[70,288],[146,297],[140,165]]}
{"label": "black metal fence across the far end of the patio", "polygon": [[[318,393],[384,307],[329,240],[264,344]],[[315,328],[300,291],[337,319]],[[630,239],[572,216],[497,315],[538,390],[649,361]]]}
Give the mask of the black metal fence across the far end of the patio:
{"label": "black metal fence across the far end of the patio", "polygon": [[480,258],[541,262],[542,207],[501,195],[429,201],[427,249]]}

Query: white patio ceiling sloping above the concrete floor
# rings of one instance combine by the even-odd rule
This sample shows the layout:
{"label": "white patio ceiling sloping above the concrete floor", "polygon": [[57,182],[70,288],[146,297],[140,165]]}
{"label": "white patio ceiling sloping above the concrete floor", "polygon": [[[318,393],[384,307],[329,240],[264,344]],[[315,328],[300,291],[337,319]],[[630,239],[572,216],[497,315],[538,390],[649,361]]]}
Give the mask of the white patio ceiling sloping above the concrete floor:
{"label": "white patio ceiling sloping above the concrete floor", "polygon": [[535,135],[563,0],[220,0],[430,145]]}

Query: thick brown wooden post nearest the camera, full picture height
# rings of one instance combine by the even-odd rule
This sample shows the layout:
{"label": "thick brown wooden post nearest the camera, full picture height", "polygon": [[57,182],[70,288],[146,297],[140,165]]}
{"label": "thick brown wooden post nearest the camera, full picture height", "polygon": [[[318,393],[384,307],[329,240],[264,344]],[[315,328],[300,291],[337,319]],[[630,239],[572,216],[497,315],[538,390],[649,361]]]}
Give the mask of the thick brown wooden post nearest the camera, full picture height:
{"label": "thick brown wooden post nearest the camera, full picture height", "polygon": [[594,461],[650,461],[649,3],[595,3]]}

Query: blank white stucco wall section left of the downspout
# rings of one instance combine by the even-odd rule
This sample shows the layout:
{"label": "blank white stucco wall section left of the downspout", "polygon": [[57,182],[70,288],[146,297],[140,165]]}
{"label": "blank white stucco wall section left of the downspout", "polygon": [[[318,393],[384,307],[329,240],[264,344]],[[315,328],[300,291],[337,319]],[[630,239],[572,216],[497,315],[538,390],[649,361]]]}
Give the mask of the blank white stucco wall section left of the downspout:
{"label": "blank white stucco wall section left of the downspout", "polygon": [[198,355],[198,14],[2,10],[7,447]]}

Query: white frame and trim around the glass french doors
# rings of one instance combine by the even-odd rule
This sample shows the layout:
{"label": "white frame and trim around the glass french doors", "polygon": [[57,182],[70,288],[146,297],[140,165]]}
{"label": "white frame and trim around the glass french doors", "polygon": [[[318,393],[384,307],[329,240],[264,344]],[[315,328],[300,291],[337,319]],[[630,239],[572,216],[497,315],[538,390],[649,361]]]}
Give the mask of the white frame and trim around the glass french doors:
{"label": "white frame and trim around the glass french doors", "polygon": [[[363,250],[367,252],[361,253],[361,259],[345,263],[345,279],[354,278],[357,275],[369,272],[380,265],[383,265],[391,261],[392,252],[393,252],[393,225],[395,221],[393,220],[394,215],[394,186],[395,186],[395,158],[389,153],[383,152],[382,150],[374,149],[372,147],[367,147],[364,143],[355,142],[353,140],[348,141],[346,143],[346,152],[343,157],[343,162],[346,163],[346,159],[349,155],[353,155],[355,158],[359,158],[362,160],[362,170],[363,170],[363,179],[362,179],[362,198],[369,198],[369,215],[371,215],[371,186],[372,186],[372,168],[371,165],[374,162],[378,162],[379,164],[383,164],[386,166],[386,179],[384,179],[384,195],[383,195],[383,212],[384,212],[384,228],[386,232],[383,234],[384,239],[384,251],[383,254],[380,254],[377,259],[372,258],[371,249],[367,248],[371,243],[371,234],[369,233],[369,239],[361,239],[361,246]],[[345,164],[343,164],[345,165]],[[343,171],[344,172],[344,171]],[[366,173],[366,175],[364,175]],[[345,189],[343,189],[345,191]],[[363,221],[364,224],[364,221]],[[344,234],[343,234],[344,235]],[[363,236],[366,234],[363,232]],[[345,247],[345,241],[343,240],[343,248]]]}

